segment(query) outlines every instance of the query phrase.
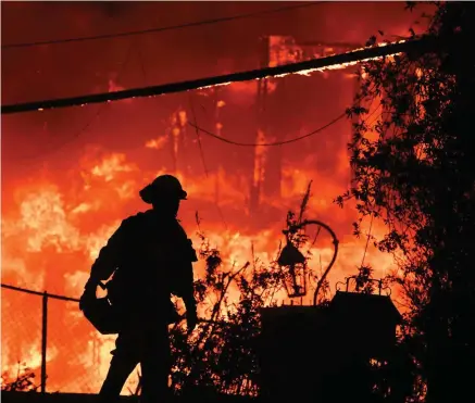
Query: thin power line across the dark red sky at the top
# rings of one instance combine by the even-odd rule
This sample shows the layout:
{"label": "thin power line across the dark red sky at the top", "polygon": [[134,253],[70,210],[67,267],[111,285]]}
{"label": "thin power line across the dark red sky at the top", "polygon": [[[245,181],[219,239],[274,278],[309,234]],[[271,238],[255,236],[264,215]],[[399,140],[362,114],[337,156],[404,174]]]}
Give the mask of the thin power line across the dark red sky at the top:
{"label": "thin power line across the dark red sky at the top", "polygon": [[228,21],[237,21],[237,20],[243,20],[243,18],[249,18],[249,17],[253,17],[253,16],[259,16],[259,15],[278,13],[278,12],[283,12],[283,11],[303,9],[303,8],[308,8],[308,7],[322,4],[325,2],[326,1],[307,2],[303,4],[292,4],[292,5],[277,8],[277,9],[257,11],[253,13],[223,16],[223,17],[218,17],[218,18],[196,21],[196,22],[191,22],[191,23],[185,23],[185,24],[179,24],[179,25],[168,25],[168,26],[149,28],[149,29],[129,30],[129,32],[117,33],[117,34],[104,34],[104,35],[95,35],[95,36],[88,36],[88,37],[53,39],[53,40],[23,42],[23,43],[9,43],[9,45],[3,45],[1,47],[1,49],[4,50],[4,49],[14,49],[14,48],[27,48],[27,47],[36,47],[36,46],[41,46],[41,45],[59,45],[59,43],[68,43],[68,42],[79,42],[79,41],[86,41],[86,40],[113,39],[113,38],[121,38],[121,37],[127,37],[127,36],[134,36],[134,35],[145,35],[145,34],[152,34],[152,33],[163,33],[166,30],[175,30],[175,29],[190,28],[190,27],[196,27],[196,26],[218,24],[218,23],[224,23],[224,22],[228,22]]}

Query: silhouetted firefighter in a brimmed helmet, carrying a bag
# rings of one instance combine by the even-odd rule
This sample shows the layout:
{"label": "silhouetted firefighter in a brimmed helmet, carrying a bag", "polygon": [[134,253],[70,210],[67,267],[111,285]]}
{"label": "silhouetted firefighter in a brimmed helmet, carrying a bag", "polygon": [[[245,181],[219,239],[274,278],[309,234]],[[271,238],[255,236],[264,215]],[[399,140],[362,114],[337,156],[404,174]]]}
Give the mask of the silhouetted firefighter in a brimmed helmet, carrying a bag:
{"label": "silhouetted firefighter in a brimmed helmet, carrying a bag", "polygon": [[[103,402],[118,399],[138,363],[142,401],[167,398],[167,325],[178,319],[171,294],[185,302],[188,331],[197,324],[192,275],[197,254],[176,219],[186,197],[178,179],[159,176],[140,191],[140,198],[153,209],[124,219],[91,267],[80,308],[100,332],[118,333],[100,390]],[[103,286],[101,281],[112,274],[112,280]],[[107,298],[96,298],[98,285],[108,289]]]}

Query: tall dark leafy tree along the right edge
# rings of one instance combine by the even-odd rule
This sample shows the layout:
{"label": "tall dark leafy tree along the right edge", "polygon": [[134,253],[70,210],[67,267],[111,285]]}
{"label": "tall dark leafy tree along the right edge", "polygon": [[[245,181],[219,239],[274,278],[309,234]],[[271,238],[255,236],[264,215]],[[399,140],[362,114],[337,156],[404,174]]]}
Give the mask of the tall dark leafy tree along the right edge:
{"label": "tall dark leafy tree along the right edge", "polygon": [[398,256],[392,280],[409,304],[404,345],[418,379],[412,399],[455,402],[465,399],[475,351],[475,8],[436,5],[427,33],[435,47],[360,72],[359,104],[348,111],[360,117],[349,143],[354,179],[336,202],[355,201],[357,235],[366,216],[386,224],[375,243]]}

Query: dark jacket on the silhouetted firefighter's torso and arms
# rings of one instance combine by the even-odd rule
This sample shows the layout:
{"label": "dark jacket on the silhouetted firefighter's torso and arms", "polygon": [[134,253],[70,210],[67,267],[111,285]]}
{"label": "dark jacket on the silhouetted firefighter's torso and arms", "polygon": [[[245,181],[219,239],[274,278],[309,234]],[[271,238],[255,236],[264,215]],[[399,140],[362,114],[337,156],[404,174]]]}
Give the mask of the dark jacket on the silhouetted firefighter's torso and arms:
{"label": "dark jacket on the silhouetted firefighter's torso and arms", "polygon": [[124,219],[91,267],[124,314],[167,315],[171,294],[193,301],[197,254],[178,221],[149,210]]}

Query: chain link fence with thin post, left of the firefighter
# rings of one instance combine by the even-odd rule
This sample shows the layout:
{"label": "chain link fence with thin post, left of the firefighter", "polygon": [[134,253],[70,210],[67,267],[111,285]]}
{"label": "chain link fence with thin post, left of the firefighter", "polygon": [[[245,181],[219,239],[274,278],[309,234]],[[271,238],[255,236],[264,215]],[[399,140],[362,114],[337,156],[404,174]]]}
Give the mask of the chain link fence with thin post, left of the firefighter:
{"label": "chain link fence with thin post, left of the firefighter", "polygon": [[[2,385],[34,374],[43,393],[98,393],[115,337],[99,335],[77,299],[1,287]],[[122,394],[130,394],[137,380],[135,371]]]}

